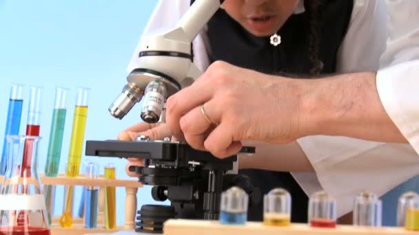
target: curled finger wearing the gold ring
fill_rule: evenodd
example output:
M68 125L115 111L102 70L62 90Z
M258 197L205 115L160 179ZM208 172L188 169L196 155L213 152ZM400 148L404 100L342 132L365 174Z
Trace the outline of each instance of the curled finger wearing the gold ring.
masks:
M216 127L215 122L218 122L213 120L221 119L221 111L218 107L219 106L216 105L214 100L210 100L204 104L204 111L201 107L196 107L181 118L181 130L185 136L186 142L190 144L192 148L205 150L203 143L211 131ZM209 120L205 118L205 115L207 115Z

